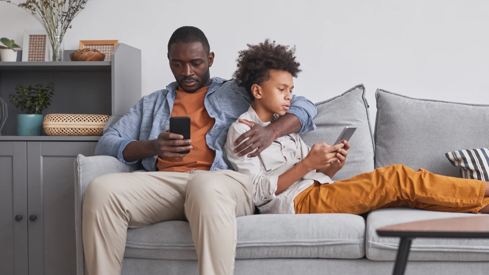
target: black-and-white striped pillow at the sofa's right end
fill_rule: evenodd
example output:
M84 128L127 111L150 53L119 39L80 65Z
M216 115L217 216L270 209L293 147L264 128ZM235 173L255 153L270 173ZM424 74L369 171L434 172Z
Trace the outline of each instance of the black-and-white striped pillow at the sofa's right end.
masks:
M445 156L453 166L460 167L462 178L489 181L489 148L453 151Z

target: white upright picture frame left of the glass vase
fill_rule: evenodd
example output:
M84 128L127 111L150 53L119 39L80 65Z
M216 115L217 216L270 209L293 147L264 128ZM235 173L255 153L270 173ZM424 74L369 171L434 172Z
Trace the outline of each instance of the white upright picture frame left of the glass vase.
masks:
M24 30L22 61L49 61L49 48L44 30Z

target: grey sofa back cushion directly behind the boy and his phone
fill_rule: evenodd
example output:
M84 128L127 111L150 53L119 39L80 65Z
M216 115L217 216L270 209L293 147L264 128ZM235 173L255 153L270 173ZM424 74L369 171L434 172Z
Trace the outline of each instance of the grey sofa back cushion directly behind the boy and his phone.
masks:
M350 139L345 166L334 175L333 180L345 180L374 170L374 137L370 126L370 115L365 87L357 85L341 95L316 103L315 131L301 135L307 145L326 142L330 145L346 126L356 127Z

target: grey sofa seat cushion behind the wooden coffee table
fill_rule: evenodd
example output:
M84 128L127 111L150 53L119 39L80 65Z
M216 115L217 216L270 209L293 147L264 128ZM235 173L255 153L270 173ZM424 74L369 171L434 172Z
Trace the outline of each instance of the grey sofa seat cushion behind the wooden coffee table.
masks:
M381 227L443 218L469 217L477 214L434 212L409 208L372 211L367 218L366 248L371 260L395 260L399 238L379 237ZM483 214L479 214L483 215ZM416 238L409 259L413 261L489 261L489 239Z

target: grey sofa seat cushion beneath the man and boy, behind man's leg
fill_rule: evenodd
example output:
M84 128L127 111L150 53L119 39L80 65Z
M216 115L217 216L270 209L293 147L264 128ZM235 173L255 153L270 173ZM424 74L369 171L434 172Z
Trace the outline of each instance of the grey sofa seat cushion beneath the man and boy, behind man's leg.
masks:
M195 260L187 222L128 229L125 257ZM237 259L361 258L365 220L351 214L272 214L238 218Z

